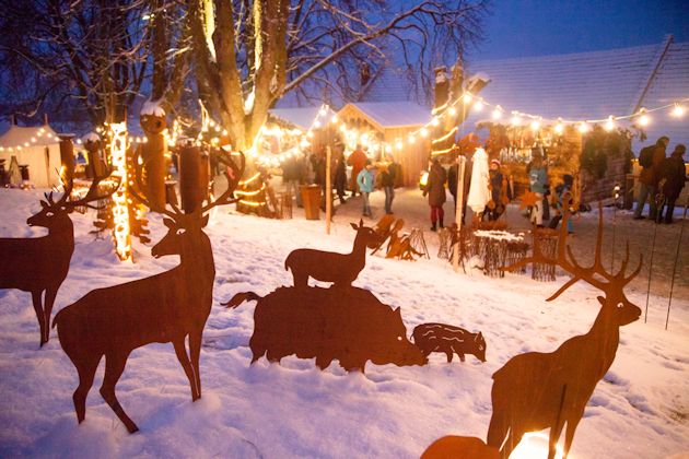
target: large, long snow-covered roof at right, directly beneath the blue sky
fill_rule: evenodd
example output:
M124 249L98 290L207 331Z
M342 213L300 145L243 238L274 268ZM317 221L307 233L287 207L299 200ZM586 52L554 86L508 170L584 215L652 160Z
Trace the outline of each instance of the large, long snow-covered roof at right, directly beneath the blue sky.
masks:
M657 70L656 70L657 69ZM488 73L491 82L481 96L507 113L518 110L544 118L603 119L629 115L637 106L653 108L689 97L689 43L637 46L604 51L576 52L474 62L471 73ZM471 114L464 130L484 113ZM649 139L634 151L663 134L670 146L689 142L687 117L668 113L653 116Z

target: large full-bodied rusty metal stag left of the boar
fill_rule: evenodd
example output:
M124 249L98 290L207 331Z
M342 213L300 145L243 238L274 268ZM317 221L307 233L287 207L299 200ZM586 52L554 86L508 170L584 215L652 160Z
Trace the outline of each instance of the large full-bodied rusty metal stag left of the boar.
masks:
M234 163L233 163L234 164ZM93 385L98 362L105 355L105 377L101 395L130 433L138 427L115 396L129 354L150 343L171 342L189 379L191 400L201 397L199 356L203 327L210 314L215 279L211 243L203 227L213 207L236 202L234 189L244 169L233 165L227 190L218 200L184 214L177 208L157 208L139 195L135 197L167 217L168 231L151 250L153 257L178 255L179 264L160 274L94 290L56 316L58 337L65 353L79 372L73 401L81 423L86 413L86 395ZM234 177L232 179L230 176ZM189 337L189 353L186 339Z

